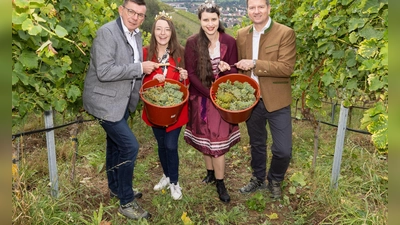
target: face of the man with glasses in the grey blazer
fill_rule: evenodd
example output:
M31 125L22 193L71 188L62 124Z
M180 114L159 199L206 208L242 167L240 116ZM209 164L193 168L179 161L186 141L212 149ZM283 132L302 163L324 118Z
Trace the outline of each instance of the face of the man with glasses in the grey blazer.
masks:
M132 32L142 25L145 18L144 15L146 14L146 6L127 2L125 6L121 5L118 7L118 12L124 25Z

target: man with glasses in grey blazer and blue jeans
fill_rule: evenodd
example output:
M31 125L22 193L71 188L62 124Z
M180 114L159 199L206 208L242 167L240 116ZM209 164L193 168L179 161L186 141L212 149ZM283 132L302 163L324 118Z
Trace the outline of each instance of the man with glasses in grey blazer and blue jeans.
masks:
M93 41L83 106L107 134L108 187L111 196L120 200L119 212L131 219L149 218L132 190L139 143L127 119L138 104L142 77L158 64L143 62L139 26L146 17L144 0L124 0L118 12L120 17L100 27Z

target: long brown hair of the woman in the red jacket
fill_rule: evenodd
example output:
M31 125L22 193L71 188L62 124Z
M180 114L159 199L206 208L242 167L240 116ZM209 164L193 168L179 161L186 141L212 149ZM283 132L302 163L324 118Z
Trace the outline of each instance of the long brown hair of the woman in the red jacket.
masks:
M176 29L174 24L172 23L172 21L170 19L167 19L165 17L161 17L158 20L165 20L168 23L169 28L171 29L171 38L168 42L168 49L169 49L169 54L172 56L172 58L174 59L176 65L178 67L185 67L185 62L184 62L184 48L179 44L178 42L178 36L176 34ZM158 55L158 50L157 50L157 40L156 37L154 35L154 31L156 28L156 23L157 21L154 21L153 26L151 28L151 38L150 38L150 45L148 46L148 54L147 54L147 60L152 60L153 57L155 56L157 58ZM180 61L178 61L178 58L180 58Z

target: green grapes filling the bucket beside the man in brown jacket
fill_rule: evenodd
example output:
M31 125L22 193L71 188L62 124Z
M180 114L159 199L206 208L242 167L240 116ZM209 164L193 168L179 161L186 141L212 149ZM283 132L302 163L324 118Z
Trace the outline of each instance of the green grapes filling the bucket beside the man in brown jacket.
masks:
M238 111L249 108L255 101L254 89L248 82L220 83L215 95L215 102L224 109Z

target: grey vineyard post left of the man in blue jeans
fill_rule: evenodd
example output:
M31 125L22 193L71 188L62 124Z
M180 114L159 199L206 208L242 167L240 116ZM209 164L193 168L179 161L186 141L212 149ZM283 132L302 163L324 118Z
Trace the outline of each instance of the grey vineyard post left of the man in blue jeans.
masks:
M50 110L44 112L44 123L45 128L53 128L53 111ZM46 143L47 143L47 158L49 161L49 174L50 174L50 186L51 196L58 197L58 175L57 175L57 161L56 161L56 147L54 141L54 130L46 131Z

